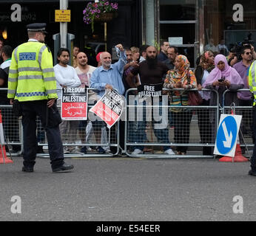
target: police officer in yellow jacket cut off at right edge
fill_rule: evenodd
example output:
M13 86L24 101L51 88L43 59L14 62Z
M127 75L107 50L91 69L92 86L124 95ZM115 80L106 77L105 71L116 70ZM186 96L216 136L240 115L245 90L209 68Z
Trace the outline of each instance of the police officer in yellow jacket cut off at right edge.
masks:
M252 111L252 119L253 119L253 129L252 133L254 135L255 147L253 148L252 158L251 158L251 170L249 170L250 176L256 176L256 60L252 63L249 68L249 89L252 91L254 95L253 102L253 111Z

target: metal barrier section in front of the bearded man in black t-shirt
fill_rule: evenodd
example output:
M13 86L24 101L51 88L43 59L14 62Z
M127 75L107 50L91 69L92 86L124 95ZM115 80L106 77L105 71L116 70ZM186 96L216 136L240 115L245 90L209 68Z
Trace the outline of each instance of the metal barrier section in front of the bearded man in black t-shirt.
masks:
M127 122L124 143L127 156L158 158L213 157L213 154L201 155L200 149L201 147L215 146L215 133L219 120L219 97L217 91L212 90L216 94L215 105L181 105L177 107L169 105L168 95L163 95L159 109L158 101L153 105L150 103L146 105L136 103L135 101L138 102L138 96L132 94L136 90L129 89L126 93ZM183 89L173 90L183 91ZM164 89L164 91L169 91L169 89ZM192 89L192 91L197 91L197 89ZM211 90L203 89L203 91ZM177 109L178 112L175 112ZM163 118L161 113L164 112L168 117L168 119L164 120L165 124L163 120L159 119ZM156 119L152 119L154 114L160 114L160 117L156 115L158 122L156 122ZM158 124L160 120L163 122L162 127ZM199 125L198 120L200 120ZM133 155L132 150L136 147L140 149L144 147L144 153ZM166 147L172 147L172 150L177 149L177 147L186 147L187 152L186 155L169 155L164 153Z

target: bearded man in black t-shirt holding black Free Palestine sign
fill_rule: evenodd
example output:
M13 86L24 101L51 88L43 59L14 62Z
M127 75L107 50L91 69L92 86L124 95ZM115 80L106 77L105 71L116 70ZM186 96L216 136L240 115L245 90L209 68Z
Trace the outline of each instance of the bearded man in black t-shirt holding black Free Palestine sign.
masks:
M157 58L157 49L155 46L149 46L146 49L146 60L142 61L138 67L132 69L132 71L127 75L127 83L131 88L136 88L135 83L132 80L132 77L138 74L141 85L156 85L163 84L164 77L166 72L168 72L168 67L158 61ZM163 100L164 102L164 100ZM128 101L129 103L129 101ZM135 105L136 105L135 101ZM138 105L146 105L145 101ZM152 104L156 105L156 104ZM155 113L155 108L151 109L154 111L152 116L152 124L154 125L154 133L160 143L169 143L169 131L167 128L168 125L168 109L166 108L166 115L164 116L164 109L161 108L162 101L158 102L159 110L158 113ZM163 104L167 105L167 104ZM148 108L144 107L141 111L141 108L137 109L137 112L142 112L143 119L142 121L137 121L137 129L134 131L131 142L141 143L143 145L146 142L146 117L149 117ZM146 114L147 112L147 114ZM156 121L157 120L157 121ZM133 126L132 126L133 127ZM144 146L136 146L135 150L132 152L132 155L138 155L143 153ZM164 153L167 155L172 155L174 152L172 148L164 146Z

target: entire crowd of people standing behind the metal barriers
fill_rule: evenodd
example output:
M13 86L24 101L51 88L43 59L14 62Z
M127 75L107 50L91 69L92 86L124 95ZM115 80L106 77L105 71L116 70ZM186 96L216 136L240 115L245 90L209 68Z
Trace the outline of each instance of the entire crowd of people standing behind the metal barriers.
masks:
M29 34L30 35L30 34ZM33 40L31 40L33 41ZM1 41L0 41L1 43ZM256 58L254 47L244 45L240 52L240 58L236 58L229 52L223 42L220 42L219 51L227 50L229 55L223 55L220 52L213 52L209 46L206 46L206 52L197 60L197 66L194 71L190 68L188 58L180 55L178 48L170 46L168 41L161 41L161 49L155 46L143 45L140 47L131 46L124 48L122 44L115 46L119 60L112 63L112 56L109 52L100 52L96 56L98 67L88 65L88 58L83 50L78 46L73 49L73 65L70 63L69 49L61 48L58 50L58 63L53 67L57 89L60 91L63 87L92 88L89 91L89 99L97 102L106 89L115 89L119 94L124 95L127 89L137 88L141 84L157 85L161 84L164 89L169 89L169 109L170 122L174 128L175 143L189 143L190 122L192 120L193 110L189 108L179 108L179 106L189 106L189 90L198 89L203 102L201 105L216 105L216 96L213 90L217 91L220 97L220 106L231 105L235 103L240 106L251 106L254 97L251 91L238 91L238 89L249 89L249 68L252 61ZM0 86L7 88L8 70L12 58L16 58L16 50L10 46L0 44L1 52L1 70ZM27 56L27 55L24 55ZM12 59L11 59L12 58ZM16 59L17 60L17 59ZM13 69L11 69L13 72ZM45 69L47 71L47 69ZM50 70L49 70L50 71ZM48 72L48 71L47 71ZM48 74L49 75L49 74ZM52 79L48 79L50 81ZM9 82L14 81L9 73ZM8 87L10 93L10 84ZM211 89L212 91L202 91L202 89ZM222 101L222 94L226 89L232 91L227 94L225 103ZM7 93L1 93L1 104L9 103ZM57 93L57 105L61 103L61 94ZM57 98L56 97L56 98ZM10 98L10 96L9 96ZM135 103L136 105L137 103ZM143 103L146 105L146 103ZM161 107L162 100L158 101ZM159 113L161 114L161 108ZM211 122L215 117L211 117L210 111L197 111L198 128L200 131L201 142L211 143L214 131ZM131 152L138 155L144 152L143 143L147 142L146 137L146 109L143 109L143 119L129 123L132 128L132 135L128 134L129 142L140 143L141 146L135 146ZM157 125L158 121L153 121ZM70 133L77 133L82 143L87 142L85 133L87 125L90 125L95 134L95 140L98 144L102 143L103 129L106 125L102 121L62 121L60 124L60 133L63 141L66 141ZM124 124L123 124L124 125ZM249 124L252 128L252 122ZM121 125L122 126L122 125ZM153 128L159 143L169 143L169 128ZM124 140L123 140L124 142ZM98 153L105 153L106 149L99 145ZM173 147L164 146L164 153L167 155L185 155L187 146L178 145L175 150ZM63 148L64 153L87 153L87 147L70 146ZM203 147L203 155L212 155L211 147Z

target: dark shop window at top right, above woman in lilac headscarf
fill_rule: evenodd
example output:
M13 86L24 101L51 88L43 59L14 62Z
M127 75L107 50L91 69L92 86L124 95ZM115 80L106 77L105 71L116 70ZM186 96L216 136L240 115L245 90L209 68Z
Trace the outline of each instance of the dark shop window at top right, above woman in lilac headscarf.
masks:
M223 40L228 49L246 42L256 46L256 1L206 0L204 25L205 45Z

